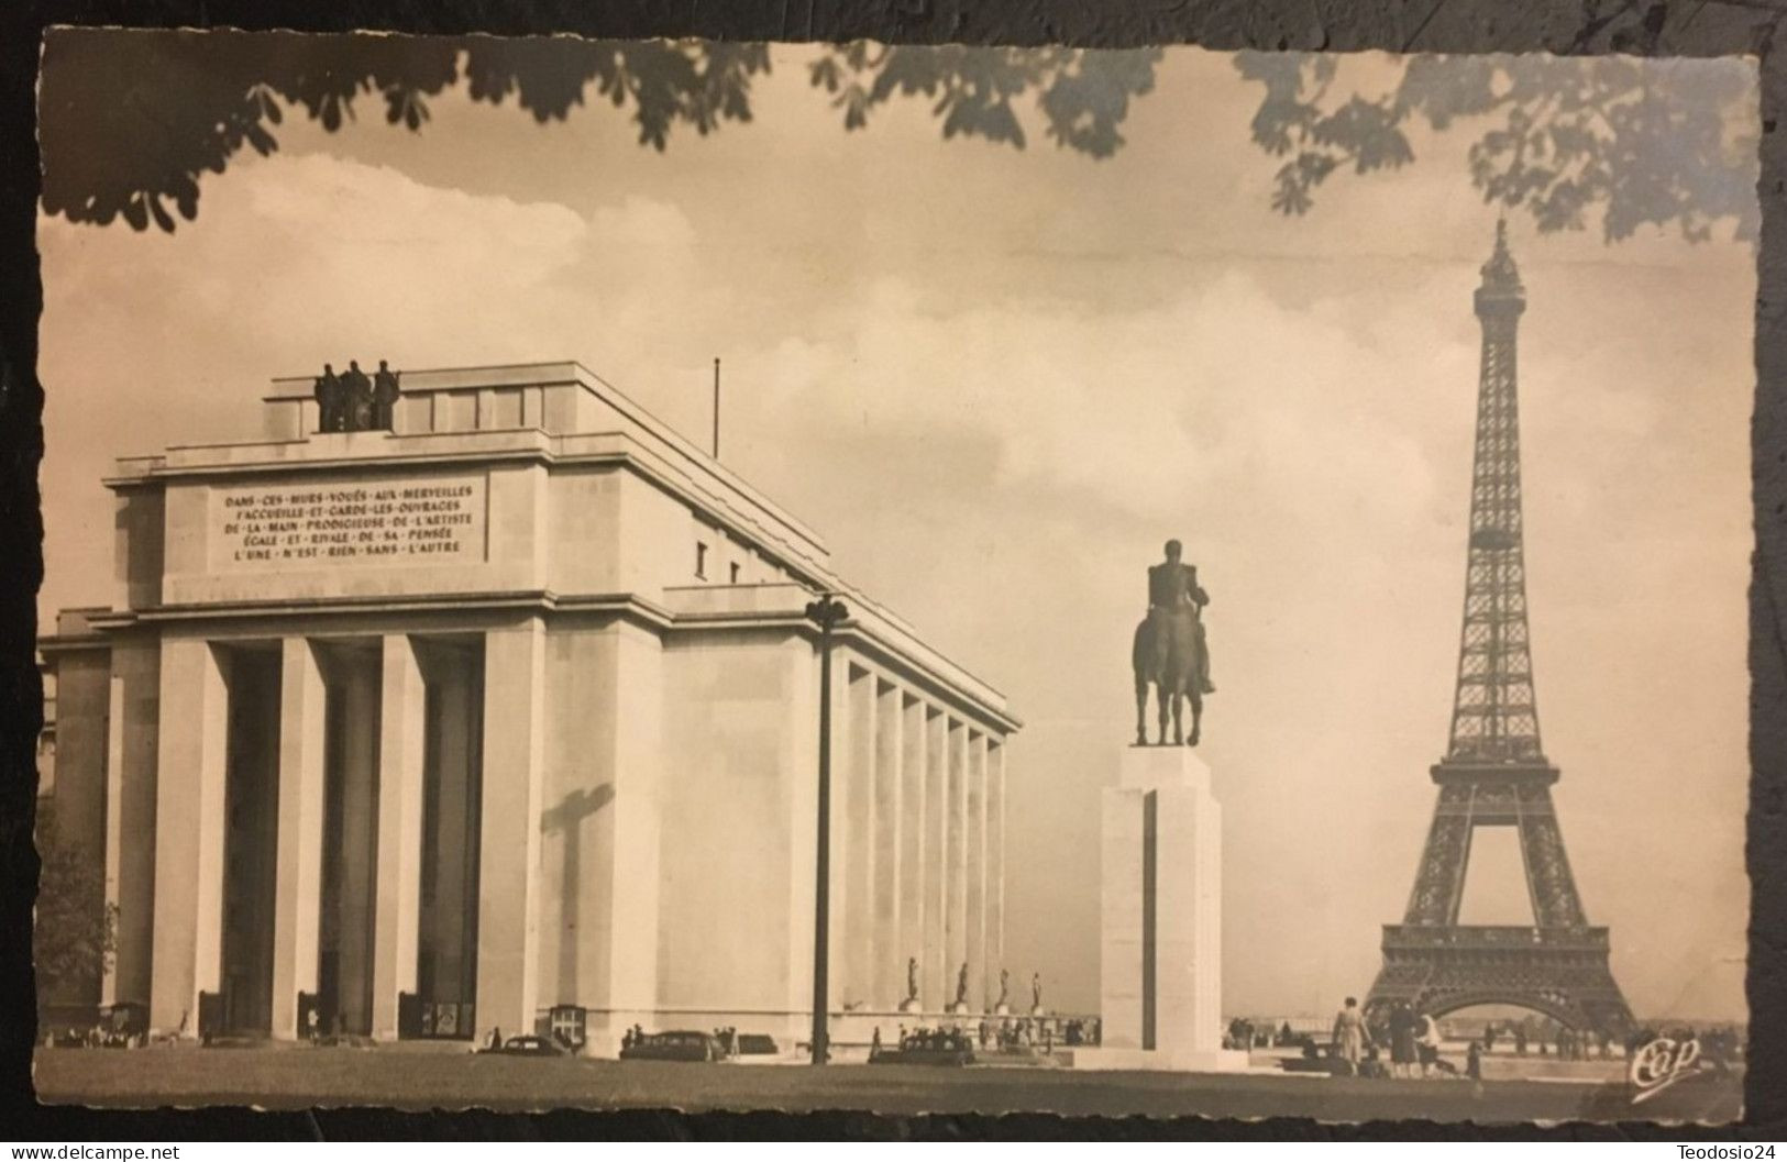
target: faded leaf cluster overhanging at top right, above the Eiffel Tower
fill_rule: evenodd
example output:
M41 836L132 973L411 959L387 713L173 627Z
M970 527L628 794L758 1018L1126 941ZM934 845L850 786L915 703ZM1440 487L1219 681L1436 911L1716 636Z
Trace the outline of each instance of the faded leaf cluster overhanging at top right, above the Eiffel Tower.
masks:
M1333 55L1244 52L1235 68L1265 89L1253 139L1285 157L1272 191L1285 215L1308 213L1333 173L1412 163L1417 118L1435 131L1478 120L1471 182L1542 232L1583 229L1590 209L1607 241L1644 225L1691 241L1721 222L1757 232L1758 143L1742 107L1755 89L1735 63L1421 55L1376 98L1333 95Z

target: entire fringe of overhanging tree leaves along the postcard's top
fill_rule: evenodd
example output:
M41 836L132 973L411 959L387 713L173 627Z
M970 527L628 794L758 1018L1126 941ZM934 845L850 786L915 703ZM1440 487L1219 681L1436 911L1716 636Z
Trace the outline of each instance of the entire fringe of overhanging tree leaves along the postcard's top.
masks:
M1154 88L1162 50L817 46L808 80L863 129L883 105L926 100L942 136L1026 148L1029 116L1060 148L1110 157L1131 102ZM1607 241L1642 225L1689 240L1728 222L1757 229L1755 131L1741 66L1633 57L1406 57L1381 97L1337 93L1337 57L1235 57L1262 86L1253 139L1283 157L1272 207L1308 213L1335 173L1415 161L1412 122L1449 131L1480 122L1469 179L1487 202L1530 213L1540 231L1598 220ZM708 134L752 118L759 43L588 41L572 38L295 36L245 32L52 32L39 89L43 207L70 222L175 229L198 213L204 173L243 147L279 148L282 111L327 131L382 104L384 120L422 131L429 100L463 84L481 102L515 104L536 122L595 100L624 111L642 145L677 129Z

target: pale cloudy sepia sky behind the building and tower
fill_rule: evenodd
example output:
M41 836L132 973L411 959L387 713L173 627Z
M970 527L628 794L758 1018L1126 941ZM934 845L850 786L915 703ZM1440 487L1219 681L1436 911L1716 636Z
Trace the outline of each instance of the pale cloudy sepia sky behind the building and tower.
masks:
M1465 122L1269 209L1256 86L1172 50L1108 161L867 132L774 52L756 120L658 154L606 104L536 125L377 102L206 175L198 220L43 220L39 610L109 597L111 458L252 438L273 375L574 358L726 459L847 577L1001 686L1008 960L1097 1001L1097 796L1167 536L1213 595L1224 1008L1328 1012L1401 917L1446 745L1494 213ZM1730 68L1730 66L1708 66ZM1347 77L1381 84L1385 61ZM1546 751L1640 1014L1741 1015L1753 254L1510 223ZM1521 919L1490 835L1465 921Z

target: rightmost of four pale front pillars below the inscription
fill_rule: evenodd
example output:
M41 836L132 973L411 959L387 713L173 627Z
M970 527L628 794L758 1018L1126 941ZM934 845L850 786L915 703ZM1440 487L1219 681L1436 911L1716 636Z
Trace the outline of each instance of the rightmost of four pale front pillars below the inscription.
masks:
M484 787L477 892L477 1030L531 1033L538 1006L545 627L484 635Z

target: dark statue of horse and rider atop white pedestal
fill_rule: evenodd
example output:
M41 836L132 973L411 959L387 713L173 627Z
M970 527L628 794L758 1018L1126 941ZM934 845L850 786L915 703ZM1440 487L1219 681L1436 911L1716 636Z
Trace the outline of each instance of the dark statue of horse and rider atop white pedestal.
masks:
M1160 704L1160 745L1197 745L1210 685L1210 649L1204 642L1203 608L1210 594L1197 585L1197 567L1179 560L1179 542L1167 542L1167 560L1147 570L1147 617L1135 627L1135 744L1147 745L1147 686L1154 683ZM1192 703L1192 735L1185 737L1183 703Z

